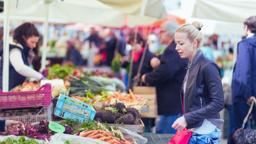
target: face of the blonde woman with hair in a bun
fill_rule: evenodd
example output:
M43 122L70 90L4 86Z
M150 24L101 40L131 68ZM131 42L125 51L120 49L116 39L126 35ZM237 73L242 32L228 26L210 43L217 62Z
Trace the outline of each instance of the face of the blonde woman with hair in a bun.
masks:
M188 58L190 61L192 61L196 54L197 41L194 40L193 43L191 43L187 37L187 33L183 32L176 32L174 34L174 39L175 44L177 44L175 50L178 51L180 57L183 59Z

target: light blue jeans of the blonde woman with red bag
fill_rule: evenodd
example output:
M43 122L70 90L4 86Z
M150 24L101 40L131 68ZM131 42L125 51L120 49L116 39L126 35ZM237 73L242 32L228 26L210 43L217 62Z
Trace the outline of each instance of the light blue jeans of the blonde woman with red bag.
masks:
M215 130L209 134L197 134L192 133L188 144L218 144L220 142L221 130L215 128Z

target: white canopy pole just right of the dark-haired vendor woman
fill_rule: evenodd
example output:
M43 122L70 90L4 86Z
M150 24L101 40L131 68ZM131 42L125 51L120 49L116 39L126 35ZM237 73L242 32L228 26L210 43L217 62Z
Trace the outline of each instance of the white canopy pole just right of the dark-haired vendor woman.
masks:
M43 52L42 52L40 71L43 71L45 69L45 65L46 65L46 46L47 46L47 41L48 41L48 25L49 25L49 6L50 6L50 2L48 2L46 4L47 4L47 9L46 9L46 18L45 18L45 21L44 21Z

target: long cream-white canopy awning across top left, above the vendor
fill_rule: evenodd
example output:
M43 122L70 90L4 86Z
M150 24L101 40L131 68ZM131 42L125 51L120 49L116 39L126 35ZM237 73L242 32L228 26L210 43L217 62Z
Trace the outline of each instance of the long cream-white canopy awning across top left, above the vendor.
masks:
M10 19L85 23L107 27L148 25L166 17L162 0L10 0ZM17 8L16 8L17 6ZM124 23L127 15L128 23ZM3 19L3 15L0 15Z

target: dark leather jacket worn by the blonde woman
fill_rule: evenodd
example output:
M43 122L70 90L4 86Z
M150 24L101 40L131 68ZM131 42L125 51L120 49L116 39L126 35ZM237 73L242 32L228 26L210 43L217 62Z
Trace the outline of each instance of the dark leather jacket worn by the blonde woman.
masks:
M185 114L187 129L199 127L204 119L220 119L224 95L219 66L204 55L187 68ZM181 91L183 101L183 92ZM183 103L182 103L183 104Z

